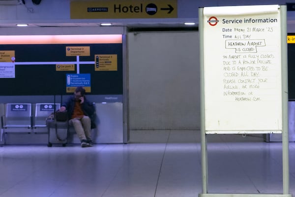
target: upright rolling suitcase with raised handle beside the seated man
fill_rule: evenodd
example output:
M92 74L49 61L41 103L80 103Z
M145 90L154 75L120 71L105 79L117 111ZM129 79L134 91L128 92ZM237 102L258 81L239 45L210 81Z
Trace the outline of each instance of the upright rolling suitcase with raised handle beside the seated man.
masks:
M62 100L62 96L61 96ZM55 103L55 97L54 97ZM48 131L48 147L53 144L61 144L66 146L69 132L68 120L59 121L56 117L56 112L46 119L46 126Z

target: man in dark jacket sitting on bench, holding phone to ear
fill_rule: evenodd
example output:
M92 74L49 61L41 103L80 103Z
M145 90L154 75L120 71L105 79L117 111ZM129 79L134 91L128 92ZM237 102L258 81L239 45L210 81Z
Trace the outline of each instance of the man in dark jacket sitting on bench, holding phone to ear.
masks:
M70 97L66 103L62 104L60 111L67 110L69 117L69 124L74 126L79 139L81 140L81 147L92 146L90 136L91 117L95 112L94 106L85 97L85 89L77 87L74 96Z

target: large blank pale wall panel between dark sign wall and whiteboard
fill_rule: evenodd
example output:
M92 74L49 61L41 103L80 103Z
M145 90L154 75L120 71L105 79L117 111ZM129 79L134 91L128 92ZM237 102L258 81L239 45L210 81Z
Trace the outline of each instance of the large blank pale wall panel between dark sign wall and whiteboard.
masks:
M129 33L128 52L130 129L200 129L199 33Z

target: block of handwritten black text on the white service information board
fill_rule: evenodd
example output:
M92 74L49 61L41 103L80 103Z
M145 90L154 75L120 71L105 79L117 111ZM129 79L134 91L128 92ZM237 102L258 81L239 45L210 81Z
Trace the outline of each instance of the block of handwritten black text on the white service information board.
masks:
M267 45L265 34L271 32L273 27L221 29L225 49L228 49L222 54L221 84L223 84L224 99L235 101L269 99L267 90L276 86L278 79L275 67L279 67L275 61L278 57L275 57L271 50L264 52L266 50L263 48ZM257 37L263 39L255 39Z

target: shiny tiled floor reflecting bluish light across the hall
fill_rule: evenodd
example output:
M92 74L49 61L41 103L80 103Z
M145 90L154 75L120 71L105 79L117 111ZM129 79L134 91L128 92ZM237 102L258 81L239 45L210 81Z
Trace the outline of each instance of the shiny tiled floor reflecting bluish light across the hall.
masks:
M0 197L197 197L202 192L199 132L142 132L129 144L0 147ZM282 143L209 135L207 149L208 193L283 192ZM295 195L294 142L290 193Z

